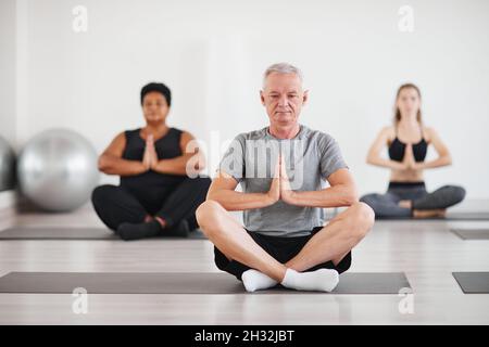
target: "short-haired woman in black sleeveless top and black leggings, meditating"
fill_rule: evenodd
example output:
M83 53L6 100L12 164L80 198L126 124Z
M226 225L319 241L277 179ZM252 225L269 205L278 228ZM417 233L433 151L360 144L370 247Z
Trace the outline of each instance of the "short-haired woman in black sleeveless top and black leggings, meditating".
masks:
M140 100L146 127L121 132L99 157L99 169L121 183L93 190L95 210L123 240L188 236L211 184L199 176L203 155L198 146L187 153L195 138L166 125L172 98L165 85L145 86Z

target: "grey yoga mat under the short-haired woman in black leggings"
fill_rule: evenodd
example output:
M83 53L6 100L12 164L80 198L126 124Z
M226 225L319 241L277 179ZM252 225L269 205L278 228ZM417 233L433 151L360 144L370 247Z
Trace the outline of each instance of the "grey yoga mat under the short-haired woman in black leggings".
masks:
M206 237L202 231L195 230L186 239L174 236L158 236L154 239L205 240ZM106 228L13 227L0 231L0 240L120 240L120 237Z

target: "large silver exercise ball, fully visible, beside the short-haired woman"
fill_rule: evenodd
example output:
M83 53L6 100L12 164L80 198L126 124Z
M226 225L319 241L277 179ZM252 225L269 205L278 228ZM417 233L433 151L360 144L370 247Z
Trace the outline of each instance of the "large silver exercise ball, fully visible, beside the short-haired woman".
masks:
M98 184L97 152L72 130L47 130L21 152L17 176L23 194L39 207L72 210L85 204Z

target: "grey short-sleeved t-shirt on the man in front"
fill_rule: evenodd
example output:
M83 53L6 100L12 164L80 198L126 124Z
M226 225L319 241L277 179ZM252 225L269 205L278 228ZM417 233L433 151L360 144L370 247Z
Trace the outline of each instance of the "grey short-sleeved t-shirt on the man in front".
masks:
M218 169L233 176L244 193L269 191L278 154L285 157L294 191L317 191L329 175L348 168L338 143L329 134L300 125L293 139L277 139L268 127L238 134L225 152ZM324 224L324 209L284 203L243 210L244 228L274 236L309 235Z

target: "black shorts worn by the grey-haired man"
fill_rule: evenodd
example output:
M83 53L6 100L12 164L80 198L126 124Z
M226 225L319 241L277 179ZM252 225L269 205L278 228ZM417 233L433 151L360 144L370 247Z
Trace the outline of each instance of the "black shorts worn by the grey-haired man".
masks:
M323 227L316 227L311 231L310 235L297 236L297 237L284 237L284 236L268 236L262 235L258 232L248 231L248 233L253 237L265 252L267 252L272 257L277 259L279 262L285 264L292 259L308 243L308 241L318 232ZM238 280L241 280L241 274L249 270L250 268L239 261L229 261L226 256L214 246L214 261L220 270L229 272L236 275ZM314 271L317 269L336 269L339 273L347 271L351 266L351 252L344 256L341 261L335 266L335 264L329 260L315 267L309 269L308 271Z

